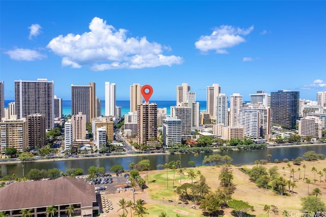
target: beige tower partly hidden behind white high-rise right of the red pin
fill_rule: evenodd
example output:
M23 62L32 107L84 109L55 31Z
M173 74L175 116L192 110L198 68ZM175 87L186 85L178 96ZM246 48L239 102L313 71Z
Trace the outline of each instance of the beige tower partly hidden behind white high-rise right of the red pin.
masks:
M192 131L193 109L188 106L171 106L171 117L176 117L182 121L181 135L190 135Z

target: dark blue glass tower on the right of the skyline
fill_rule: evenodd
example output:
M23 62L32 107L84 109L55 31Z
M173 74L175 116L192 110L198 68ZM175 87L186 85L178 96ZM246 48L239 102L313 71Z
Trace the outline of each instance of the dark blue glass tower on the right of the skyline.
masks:
M300 92L290 90L279 90L270 93L271 123L295 128L299 117Z

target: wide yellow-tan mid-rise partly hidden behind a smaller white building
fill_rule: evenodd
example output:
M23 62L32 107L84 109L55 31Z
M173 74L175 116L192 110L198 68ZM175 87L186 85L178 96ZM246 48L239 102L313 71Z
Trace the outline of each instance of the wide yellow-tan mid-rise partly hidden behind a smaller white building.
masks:
M98 128L105 128L105 134L106 134L106 139L107 140L113 140L113 134L114 134L114 129L113 129L114 121L112 117L96 117L93 118L92 120L92 133L93 133L93 138L97 138L97 129Z

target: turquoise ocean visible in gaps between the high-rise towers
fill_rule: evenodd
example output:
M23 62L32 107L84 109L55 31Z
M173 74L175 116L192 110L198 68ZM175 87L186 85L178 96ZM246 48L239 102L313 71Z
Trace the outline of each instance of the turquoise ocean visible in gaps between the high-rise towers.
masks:
M14 102L15 100L5 100L5 108L8 107L10 102ZM167 108L167 114L170 115L170 106L175 106L176 101L151 101L157 104L157 108ZM206 101L197 101L200 103L200 111L206 111ZM71 114L71 101L70 100L63 100L62 101L62 113L64 115ZM130 111L130 101L129 100L117 100L117 106L121 107L121 115L128 114ZM105 113L105 101L101 101L101 114L104 115Z

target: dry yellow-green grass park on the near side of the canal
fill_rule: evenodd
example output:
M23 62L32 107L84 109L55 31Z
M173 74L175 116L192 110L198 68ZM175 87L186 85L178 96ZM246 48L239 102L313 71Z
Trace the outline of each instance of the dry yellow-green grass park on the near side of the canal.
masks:
M290 164L290 167L288 167ZM306 168L303 167L305 165ZM326 201L326 183L325 183L325 171L320 174L313 172L313 168L318 171L323 171L326 168L326 160L319 161L302 161L301 165L294 165L293 162L287 163L267 163L262 165L267 170L273 166L277 166L279 176L282 176L286 180L293 180L295 187L293 192L288 192L287 185L285 186L285 192L287 196L278 195L275 191L258 187L255 182L250 180L250 177L241 171L241 168L251 169L258 165L243 165L241 167L232 167L233 183L236 186L235 192L232 195L232 199L242 200L253 206L253 211L248 213L254 214L257 217L267 216L267 212L264 210L265 205L274 205L278 208L279 213L273 213L269 211L269 216L283 216L283 211L287 210L291 213L300 213L302 209L302 197L312 194L313 189L319 188L321 194L318 195L322 201ZM284 167L284 168L283 168ZM300 170L298 170L300 168ZM193 169L194 171L200 171L205 176L206 182L211 191L216 191L220 186L219 175L221 173L222 165L219 166L201 166L184 168L183 174L180 175L177 171L170 169L152 170L148 171L148 188L144 191L135 189L135 200L141 199L145 201L144 207L147 209L148 214L144 216L159 216L160 213L166 212L167 216L204 216L203 210L199 208L200 204L192 201L180 201L176 188L184 183L192 183L187 171ZM294 169L294 175L290 171ZM293 170L292 170L293 171ZM290 176L291 173L291 176ZM146 171L140 172L140 175L147 180ZM293 177L294 176L294 177ZM299 177L300 176L300 177ZM303 178L310 179L308 183ZM193 179L193 182L198 181L198 176ZM173 188L173 185L175 188ZM292 189L292 187L291 187ZM114 204L115 209L110 210L109 213L102 213L101 216L121 216L123 209L120 209L119 200L124 198L126 201L133 200L132 191L118 193L118 194L106 194L106 197L110 198ZM120 210L119 210L120 209ZM222 209L225 217L231 215L232 208ZM128 213L126 213L128 211ZM134 214L133 210L126 208L126 216ZM296 216L296 215L295 215Z

